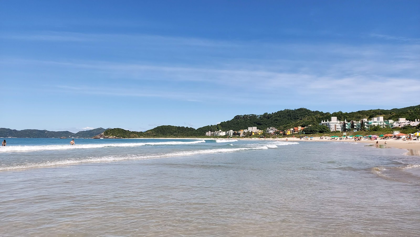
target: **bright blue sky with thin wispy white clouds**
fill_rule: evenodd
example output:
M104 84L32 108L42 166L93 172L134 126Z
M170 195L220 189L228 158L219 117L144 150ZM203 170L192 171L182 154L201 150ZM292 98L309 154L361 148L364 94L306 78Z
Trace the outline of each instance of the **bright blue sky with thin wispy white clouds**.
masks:
M420 104L414 0L1 1L0 21L0 126L11 129Z

